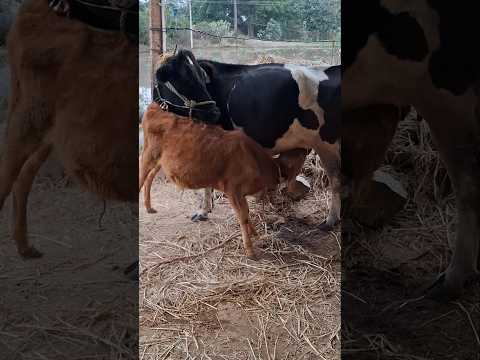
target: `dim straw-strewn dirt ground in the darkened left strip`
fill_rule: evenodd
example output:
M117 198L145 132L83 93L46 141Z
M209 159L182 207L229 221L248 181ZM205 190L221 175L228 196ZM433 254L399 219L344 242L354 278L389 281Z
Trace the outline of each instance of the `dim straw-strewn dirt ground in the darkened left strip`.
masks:
M123 269L138 253L136 205L108 202L99 228L103 202L65 179L37 177L29 232L44 256L36 260L16 253L9 208L10 198L0 212L0 358L134 358L138 284Z

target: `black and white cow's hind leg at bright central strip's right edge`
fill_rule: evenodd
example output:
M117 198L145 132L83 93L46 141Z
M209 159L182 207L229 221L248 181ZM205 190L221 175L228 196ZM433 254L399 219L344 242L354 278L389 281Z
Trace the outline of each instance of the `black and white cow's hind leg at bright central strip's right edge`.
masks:
M340 171L341 171L341 158L340 158L340 149L338 144L329 144L323 141L319 141L314 147L315 152L320 156L322 165L327 173L330 192L331 192L331 202L328 209L327 219L320 225L320 228L325 231L331 230L339 221L340 221L340 210L341 210L341 180L340 180Z

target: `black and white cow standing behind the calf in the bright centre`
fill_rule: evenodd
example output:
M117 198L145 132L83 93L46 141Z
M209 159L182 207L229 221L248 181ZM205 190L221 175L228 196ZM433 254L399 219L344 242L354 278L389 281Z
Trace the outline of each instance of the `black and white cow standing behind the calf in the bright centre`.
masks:
M195 75L186 75L195 74ZM295 154L300 161L314 149L320 156L330 181L332 201L324 228L340 219L340 121L341 99L339 66L313 69L284 64L234 65L195 60L182 50L157 71L159 98L174 103L171 111L180 111L188 100L197 99L184 84L201 78L220 109L220 118L211 122L225 129L241 129L274 154ZM190 76L188 79L187 76ZM168 85L168 86L166 86ZM189 95L186 95L189 92ZM185 112L185 110L183 110ZM215 121L216 120L216 121ZM219 149L220 151L220 149ZM293 151L293 152L290 152ZM295 152L296 151L296 152ZM281 155L282 156L282 155ZM241 166L239 164L239 166ZM295 177L290 179L293 188ZM210 191L206 191L200 211L211 210Z

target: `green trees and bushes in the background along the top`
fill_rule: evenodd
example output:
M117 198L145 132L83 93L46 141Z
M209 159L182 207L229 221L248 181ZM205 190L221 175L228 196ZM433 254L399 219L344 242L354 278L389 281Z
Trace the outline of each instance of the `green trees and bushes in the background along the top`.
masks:
M251 0L237 1L240 35L272 40L340 39L340 0L274 0L264 4ZM148 38L148 9L142 10L144 6L148 7L148 2L141 2L140 39ZM195 29L218 35L230 34L233 29L233 1L193 0L192 16ZM169 27L189 27L188 1L170 0L165 17ZM187 31L167 32L169 41L177 43L188 43L188 36ZM210 40L215 41L213 38Z

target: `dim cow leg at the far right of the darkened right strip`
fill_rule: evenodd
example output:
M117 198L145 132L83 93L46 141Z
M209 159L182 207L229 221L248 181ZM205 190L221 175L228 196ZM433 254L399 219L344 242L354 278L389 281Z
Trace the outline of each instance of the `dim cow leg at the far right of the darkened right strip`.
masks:
M447 270L437 278L429 291L433 298L448 300L459 296L465 282L478 274L480 119L462 119L458 114L448 112L423 115L429 122L442 160L447 166L457 200L458 225L453 257Z

